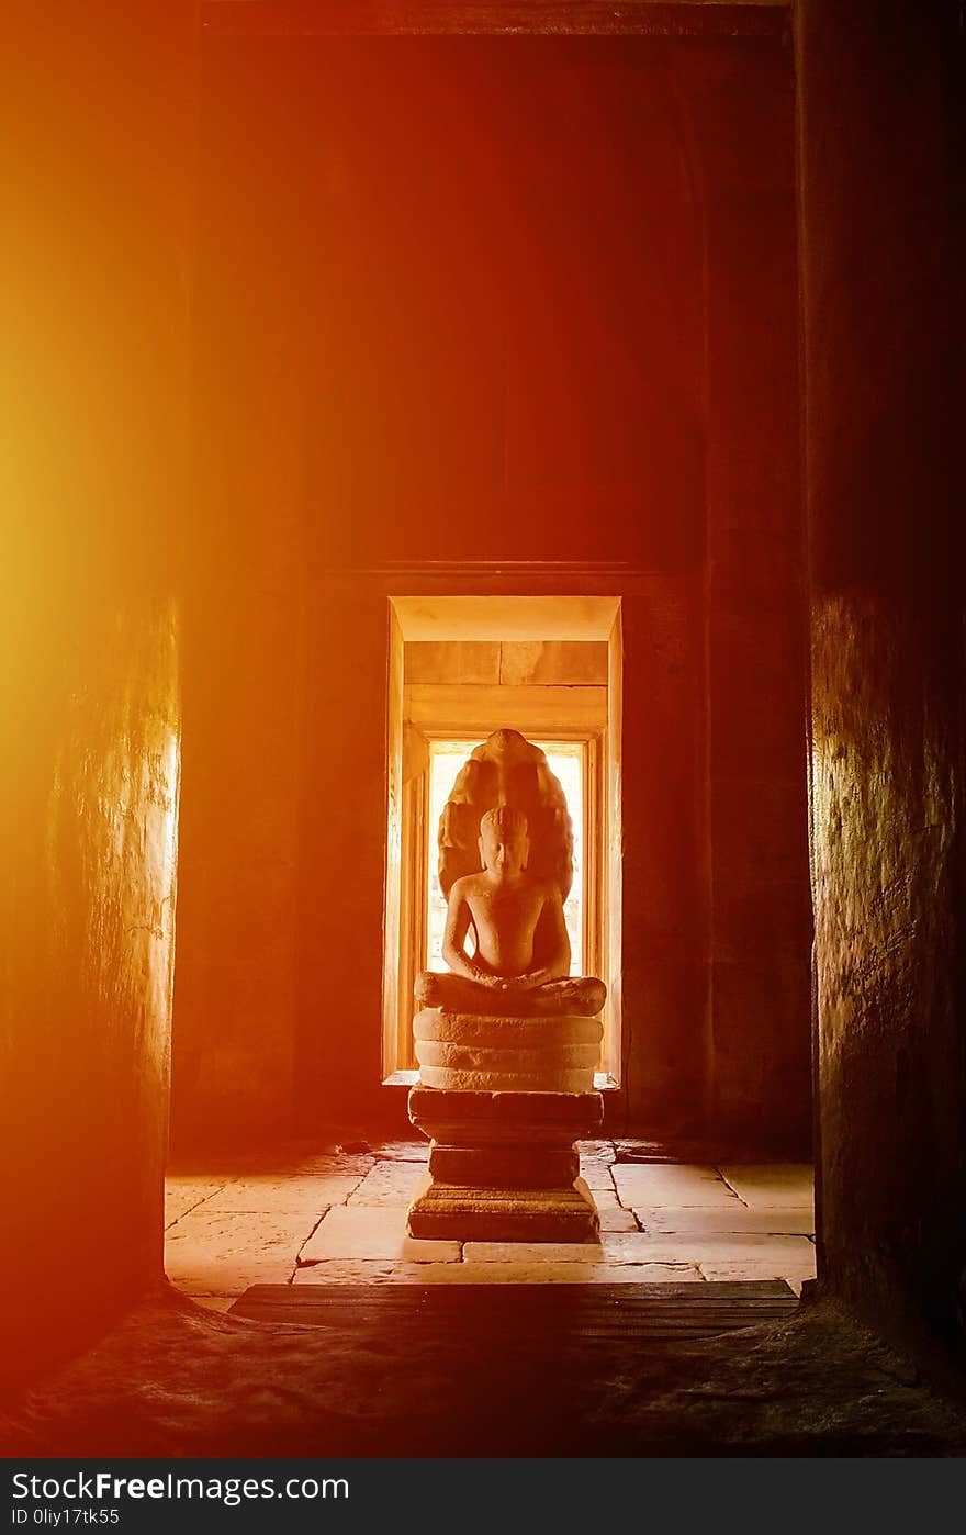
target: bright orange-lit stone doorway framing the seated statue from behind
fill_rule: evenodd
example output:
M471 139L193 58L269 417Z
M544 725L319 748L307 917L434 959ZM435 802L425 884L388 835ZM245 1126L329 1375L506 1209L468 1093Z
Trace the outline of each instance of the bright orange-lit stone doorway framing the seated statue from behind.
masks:
M571 955L607 975L600 1085L620 1081L620 599L390 599L389 830L382 1081L415 1081L413 978L441 938L438 821L450 780L498 726L556 749L581 853ZM461 743L461 751L456 749ZM462 752L462 755L461 755ZM579 932L577 932L579 924ZM582 973L582 972L574 972Z

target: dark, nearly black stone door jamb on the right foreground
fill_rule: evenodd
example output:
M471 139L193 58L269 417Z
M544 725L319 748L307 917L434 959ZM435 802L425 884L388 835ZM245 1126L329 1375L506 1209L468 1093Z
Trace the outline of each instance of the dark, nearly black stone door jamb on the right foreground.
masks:
M961 1335L963 37L803 0L825 1283Z

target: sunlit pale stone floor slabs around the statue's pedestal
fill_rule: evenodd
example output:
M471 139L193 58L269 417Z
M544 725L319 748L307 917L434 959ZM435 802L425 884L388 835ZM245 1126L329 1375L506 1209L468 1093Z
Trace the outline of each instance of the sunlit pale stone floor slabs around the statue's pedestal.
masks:
M427 1142L289 1142L232 1165L174 1168L166 1269L227 1311L249 1285L674 1283L815 1273L812 1170L673 1160L653 1142L581 1144L602 1240L428 1242L405 1234Z

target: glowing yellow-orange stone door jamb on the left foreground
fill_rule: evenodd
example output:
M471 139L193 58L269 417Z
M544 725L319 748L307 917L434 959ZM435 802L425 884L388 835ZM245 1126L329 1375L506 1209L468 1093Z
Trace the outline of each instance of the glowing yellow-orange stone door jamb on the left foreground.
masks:
M18 41L0 603L14 1374L161 1277L192 14L65 5Z

